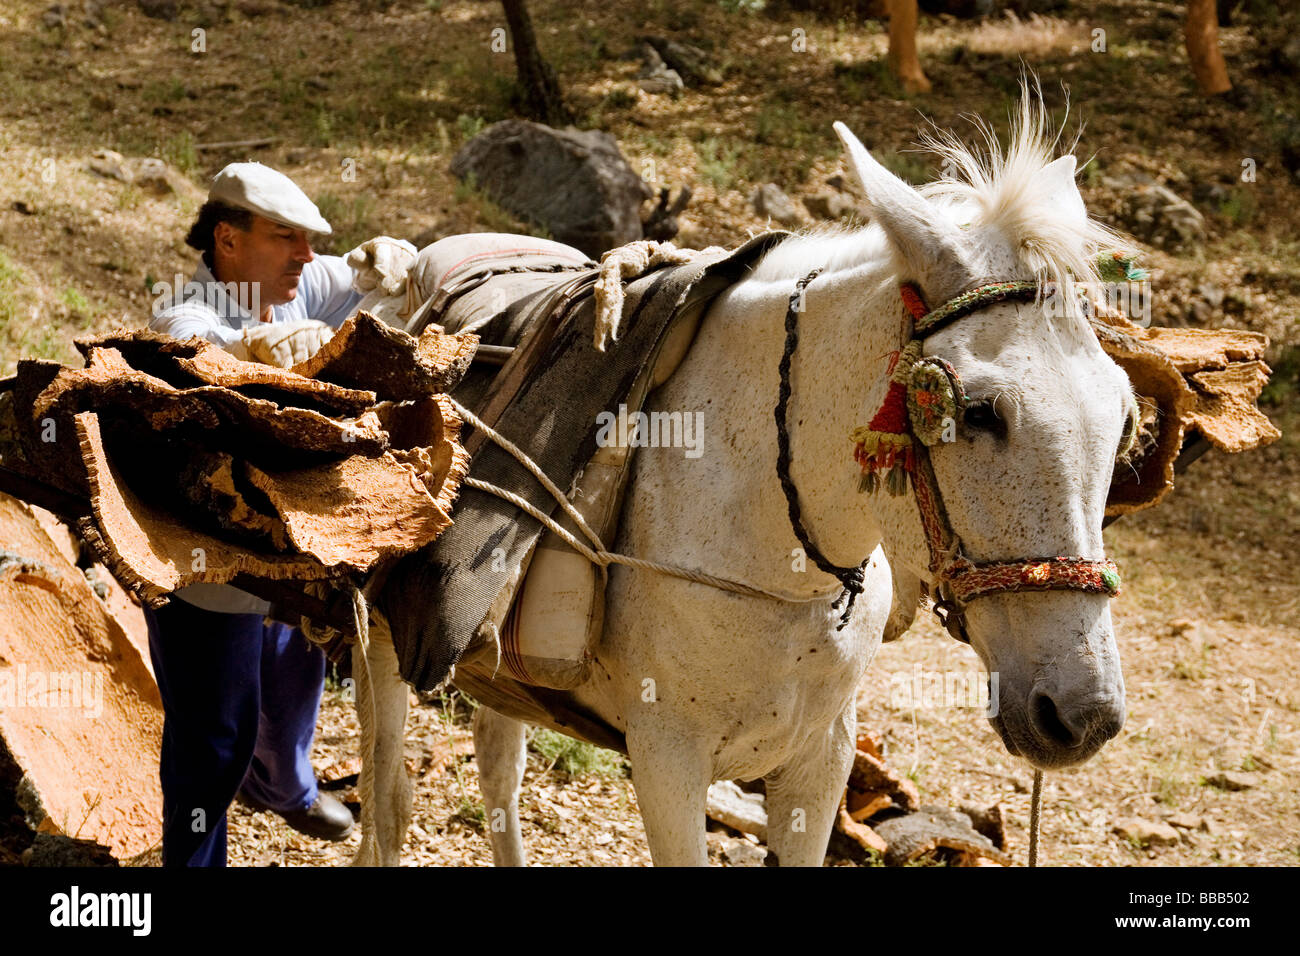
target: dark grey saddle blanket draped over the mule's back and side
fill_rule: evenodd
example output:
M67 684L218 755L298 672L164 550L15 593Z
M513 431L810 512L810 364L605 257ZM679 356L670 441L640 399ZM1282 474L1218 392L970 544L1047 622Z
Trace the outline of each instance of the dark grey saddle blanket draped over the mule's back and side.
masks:
M493 238L499 242L504 237ZM512 238L520 245L543 242ZM604 351L593 342L592 291L598 271L576 269L581 263L562 252L567 247L549 243L556 248L546 248L546 255L534 250L521 259L495 255L493 248L473 261L465 256L456 278L469 291L433 320L447 332L473 329L486 343L517 345L495 376L476 367L452 394L517 445L555 485L569 489L597 451L602 423L607 429L620 411L627 416L627 408L619 406L627 406L637 381L644 381L673 319L686 310L702 311L785 238L785 233L770 233L732 252L701 254L686 264L629 280L619 337ZM439 245L425 250L434 254L429 259L437 259L438 267L448 261L445 252L437 255ZM581 259L580 252L568 252ZM547 260L547 255L554 258ZM426 267L424 282L446 287L448 271L438 267ZM502 272L512 267L516 272ZM529 267L554 269L555 274ZM420 274L419 264L412 274ZM426 285L421 293L428 291ZM412 325L419 320L417 313ZM642 392L632 411L644 397ZM511 454L469 429L462 441L473 454L471 477L512 492L543 514L558 511L551 496ZM523 509L462 486L452 525L432 545L402 558L378 597L406 680L428 691L448 678L489 614L514 597L543 531Z

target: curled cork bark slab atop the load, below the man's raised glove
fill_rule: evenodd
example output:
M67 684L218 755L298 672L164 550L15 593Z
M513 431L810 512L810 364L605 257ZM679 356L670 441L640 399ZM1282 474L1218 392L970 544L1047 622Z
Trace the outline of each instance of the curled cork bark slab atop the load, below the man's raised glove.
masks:
M369 312L358 312L318 352L290 371L373 389L382 401L404 402L451 392L468 371L477 345L477 336L446 336L437 329L416 339Z

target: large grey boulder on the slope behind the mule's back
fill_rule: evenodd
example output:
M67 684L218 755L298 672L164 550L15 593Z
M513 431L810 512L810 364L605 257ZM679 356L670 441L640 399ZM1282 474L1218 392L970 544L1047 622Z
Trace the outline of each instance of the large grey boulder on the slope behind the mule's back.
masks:
M641 203L654 195L608 133L525 120L489 126L460 147L451 172L593 259L641 238Z

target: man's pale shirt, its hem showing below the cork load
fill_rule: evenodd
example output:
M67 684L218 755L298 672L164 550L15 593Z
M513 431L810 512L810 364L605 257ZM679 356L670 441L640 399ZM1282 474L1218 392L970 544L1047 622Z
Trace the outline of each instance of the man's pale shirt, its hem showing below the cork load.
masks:
M283 306L272 306L272 321L315 319L337 329L363 298L352 289L352 268L341 256L316 256L304 263L298 295ZM259 324L259 317L239 304L237 290L217 282L207 263L199 261L188 282L182 285L179 278L177 276L177 287L170 289L170 294L166 284L153 286L159 298L151 330L173 338L198 336L229 350L240 341L244 329ZM176 597L224 614L266 614L270 610L269 602L229 584L191 584L177 591Z

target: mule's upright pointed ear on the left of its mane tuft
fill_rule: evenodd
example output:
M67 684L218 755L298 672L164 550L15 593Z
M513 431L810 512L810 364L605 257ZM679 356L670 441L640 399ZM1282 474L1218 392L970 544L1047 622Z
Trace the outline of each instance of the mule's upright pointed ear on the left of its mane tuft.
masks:
M914 273L911 277L935 299L952 295L954 286L970 280L958 228L920 193L880 165L848 126L836 122L835 131L849 152L849 165L862 186L871 219L884 228Z

